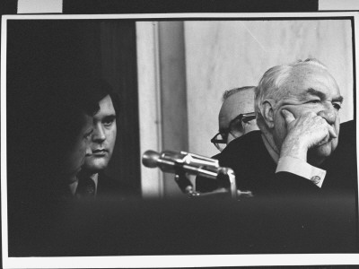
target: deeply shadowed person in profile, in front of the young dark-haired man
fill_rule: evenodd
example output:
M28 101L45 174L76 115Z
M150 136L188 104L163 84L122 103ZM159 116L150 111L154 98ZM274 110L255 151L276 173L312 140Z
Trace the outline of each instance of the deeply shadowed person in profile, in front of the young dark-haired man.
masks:
M18 189L23 199L35 204L59 201L71 196L69 186L77 181L90 152L92 117L100 107L89 94L89 77L57 73L51 80L31 81L28 87L34 90L23 101L27 114L18 120L25 124L17 132L26 129L27 134L19 145L24 161L16 179Z

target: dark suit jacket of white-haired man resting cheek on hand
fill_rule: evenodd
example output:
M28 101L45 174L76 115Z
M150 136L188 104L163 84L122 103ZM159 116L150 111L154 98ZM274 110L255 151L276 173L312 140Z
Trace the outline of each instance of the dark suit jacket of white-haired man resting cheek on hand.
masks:
M230 167L236 175L237 187L250 190L253 195L349 195L356 194L355 122L341 125L337 150L320 165L327 170L323 186L287 172L275 173L272 160L262 141L260 131L253 131L235 139L215 156L223 167ZM213 181L197 178L197 190L215 189Z

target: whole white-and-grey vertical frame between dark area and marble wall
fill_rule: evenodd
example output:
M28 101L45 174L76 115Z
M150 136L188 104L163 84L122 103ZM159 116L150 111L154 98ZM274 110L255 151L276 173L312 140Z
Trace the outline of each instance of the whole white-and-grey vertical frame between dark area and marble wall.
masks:
M140 152L188 151L183 22L136 22L136 39ZM142 166L141 182L145 198L182 195L159 169Z

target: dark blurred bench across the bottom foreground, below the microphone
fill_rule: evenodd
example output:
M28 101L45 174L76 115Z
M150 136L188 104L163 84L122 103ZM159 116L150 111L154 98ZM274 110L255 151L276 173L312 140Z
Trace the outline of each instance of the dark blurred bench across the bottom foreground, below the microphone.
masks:
M337 196L64 204L56 216L9 226L9 234L16 231L9 256L358 253L356 222L347 217L353 202Z

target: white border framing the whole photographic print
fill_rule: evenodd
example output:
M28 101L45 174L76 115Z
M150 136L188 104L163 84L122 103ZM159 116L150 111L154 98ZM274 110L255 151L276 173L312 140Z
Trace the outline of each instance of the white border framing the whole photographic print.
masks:
M355 12L319 13L152 13L152 14L34 14L3 15L1 47L1 202L2 202L2 255L4 268L112 268L112 267L194 267L194 266L238 266L238 265L358 265L359 254L299 254L299 255L213 255L213 256L78 256L78 257L9 257L7 241L7 162L6 162L6 36L8 20L83 20L83 19L236 19L236 18L289 18L289 17L346 17L353 18L355 40L359 40L359 17ZM355 56L359 52L355 42ZM356 61L354 58L354 65ZM357 67L355 82L359 81ZM359 96L356 94L356 103ZM359 117L356 109L356 119ZM356 140L359 141L358 132ZM358 152L358 146L356 145ZM175 263L174 263L175 261Z

